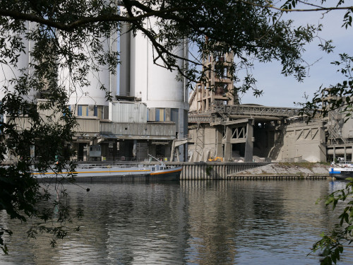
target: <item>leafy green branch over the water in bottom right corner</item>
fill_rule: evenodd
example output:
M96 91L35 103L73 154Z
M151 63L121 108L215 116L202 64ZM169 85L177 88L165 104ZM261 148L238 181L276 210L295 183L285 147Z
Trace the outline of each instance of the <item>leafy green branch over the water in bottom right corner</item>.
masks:
M322 265L336 264L344 246L353 242L353 178L347 180L349 182L345 189L333 192L325 201L326 206L333 206L333 210L340 202L345 204L345 208L339 216L340 223L335 225L330 234L322 234L321 240L313 245L313 252L322 250Z

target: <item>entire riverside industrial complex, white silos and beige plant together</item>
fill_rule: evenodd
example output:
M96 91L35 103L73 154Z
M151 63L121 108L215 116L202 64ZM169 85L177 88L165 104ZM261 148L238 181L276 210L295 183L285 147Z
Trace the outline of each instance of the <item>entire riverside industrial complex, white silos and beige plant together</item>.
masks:
M229 75L232 54L208 54L203 58L208 78L196 84L189 100L186 80L177 80L175 71L154 64L153 48L146 37L132 35L128 25L122 30L119 85L116 75L100 69L89 73L90 86L76 89L67 78L67 69L58 70L78 122L71 143L77 150L74 159L145 160L151 154L163 160L191 162L319 162L339 156L352 160L352 118L344 122L345 115L339 110L307 122L294 108L239 105ZM107 49L118 47L115 35L102 42ZM25 43L19 69L28 68L30 46ZM179 57L187 57L186 41L176 52ZM222 71L215 71L217 61L222 62ZM177 63L181 69L185 66L182 60ZM13 92L9 80L20 76L20 71L5 64L1 68L3 98ZM106 100L101 86L113 96L112 102ZM323 97L326 106L332 98ZM43 102L41 93L32 90L28 100ZM16 126L18 130L28 129L30 122L19 117Z

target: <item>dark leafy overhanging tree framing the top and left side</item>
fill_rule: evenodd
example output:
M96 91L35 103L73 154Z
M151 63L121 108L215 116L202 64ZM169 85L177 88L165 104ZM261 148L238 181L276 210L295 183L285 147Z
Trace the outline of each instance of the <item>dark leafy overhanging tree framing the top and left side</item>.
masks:
M74 167L70 159L74 151L68 143L76 122L67 106L70 90L58 71L67 70L73 92L90 85L90 71L105 68L114 73L119 52L114 47L107 49L103 43L119 33L122 23L128 23L133 34L148 38L154 48L155 63L178 71L179 76L188 78L189 86L207 76L199 70L202 61L198 57L181 58L174 54L184 40L189 40L198 54L232 52L236 59L229 72L232 80L237 81L236 89L260 95L261 91L253 86L251 73L243 83L237 76L239 69L251 68L254 59L280 61L282 73L294 75L299 81L306 76L301 54L304 45L318 37L321 25L294 27L292 20L284 20L282 13L291 11L298 2L301 1L283 1L283 6L277 8L266 0L1 1L0 63L3 68L16 69L18 74L0 74L1 89L6 91L0 114L8 117L1 123L0 157L6 162L6 155L11 152L19 160L17 165L0 167L0 210L20 220L32 216L44 221L52 218L47 208L37 207L40 201L50 199L50 194L37 184L31 172L32 167L46 170L57 157L55 170L60 171L66 163ZM332 9L345 8L345 19L350 24L352 8L342 4L343 1L337 1ZM148 26L151 23L157 25L157 30ZM20 54L28 48L25 42L31 43L27 51L31 60L27 66L21 66ZM330 42L321 44L325 51L332 48ZM179 59L187 61L188 67L179 66ZM216 62L217 69L222 69L222 62ZM102 90L107 89L102 86ZM28 100L32 91L45 91L42 98L46 101L37 105ZM112 96L108 94L107 98ZM19 130L16 124L21 117L28 117L30 126ZM35 146L36 160L28 156L30 146ZM58 204L54 200L53 205ZM70 220L65 205L59 204L59 208L59 221ZM46 229L56 237L66 235L64 227L59 228ZM0 247L7 252L2 235L10 231L0 229Z

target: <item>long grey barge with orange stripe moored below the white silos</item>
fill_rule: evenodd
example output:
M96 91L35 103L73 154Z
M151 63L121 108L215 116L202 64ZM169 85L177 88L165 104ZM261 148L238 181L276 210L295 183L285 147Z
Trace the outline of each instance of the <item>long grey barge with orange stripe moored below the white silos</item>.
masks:
M150 155L152 157L152 155ZM154 158L154 157L152 157ZM157 158L155 158L157 160ZM75 182L179 181L182 167L159 164L104 165L78 164L75 171L32 172L39 181L74 177Z

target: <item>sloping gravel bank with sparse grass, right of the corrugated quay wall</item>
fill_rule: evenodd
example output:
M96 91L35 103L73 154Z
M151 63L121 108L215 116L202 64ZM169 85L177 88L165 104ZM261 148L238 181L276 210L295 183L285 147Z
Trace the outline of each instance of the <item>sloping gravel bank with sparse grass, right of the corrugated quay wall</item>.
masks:
M227 179L329 179L323 163L271 163L229 174Z

